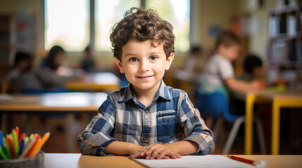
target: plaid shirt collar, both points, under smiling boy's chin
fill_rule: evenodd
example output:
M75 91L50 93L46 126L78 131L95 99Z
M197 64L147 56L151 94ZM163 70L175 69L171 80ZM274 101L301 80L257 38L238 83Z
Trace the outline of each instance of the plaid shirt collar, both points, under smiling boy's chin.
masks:
M158 97L162 97L165 100L171 100L169 87L165 85L163 80L161 80L161 85L159 86L158 91L156 92L156 96L154 97L154 100L158 99ZM135 97L134 89L131 83L129 83L129 85L124 87L124 91L122 92L119 101L128 102L130 99L132 99L134 102L137 102L137 97Z

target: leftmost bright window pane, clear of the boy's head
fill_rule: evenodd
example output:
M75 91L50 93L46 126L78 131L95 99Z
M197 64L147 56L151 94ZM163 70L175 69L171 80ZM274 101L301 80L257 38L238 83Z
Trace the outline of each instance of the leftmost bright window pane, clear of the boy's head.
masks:
M82 51L89 44L89 0L45 0L44 47Z

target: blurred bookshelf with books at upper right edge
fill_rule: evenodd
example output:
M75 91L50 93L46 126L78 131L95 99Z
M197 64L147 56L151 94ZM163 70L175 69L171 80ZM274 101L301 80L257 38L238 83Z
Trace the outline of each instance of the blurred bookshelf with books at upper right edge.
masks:
M268 82L282 78L302 83L302 3L274 8L269 13Z

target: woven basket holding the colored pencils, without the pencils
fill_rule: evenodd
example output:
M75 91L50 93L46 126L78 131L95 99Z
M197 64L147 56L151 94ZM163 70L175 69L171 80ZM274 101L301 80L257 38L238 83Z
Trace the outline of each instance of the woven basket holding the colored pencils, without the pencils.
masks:
M40 151L34 158L22 158L14 160L0 160L0 167L3 168L38 168L44 167L44 152Z

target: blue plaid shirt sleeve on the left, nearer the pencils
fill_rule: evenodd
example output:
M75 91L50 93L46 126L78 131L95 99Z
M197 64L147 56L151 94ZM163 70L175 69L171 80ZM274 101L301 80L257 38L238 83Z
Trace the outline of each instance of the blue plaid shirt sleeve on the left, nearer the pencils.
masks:
M103 150L113 141L110 136L115 123L115 106L111 102L110 94L100 106L98 115L92 118L89 125L79 137L77 144L80 151L85 155L106 155Z

